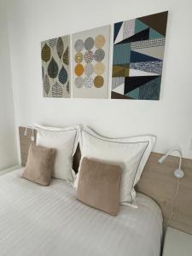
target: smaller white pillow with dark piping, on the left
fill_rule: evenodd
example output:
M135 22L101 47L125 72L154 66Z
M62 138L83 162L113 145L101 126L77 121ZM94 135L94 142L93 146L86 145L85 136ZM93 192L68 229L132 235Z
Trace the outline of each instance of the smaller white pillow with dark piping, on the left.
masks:
M56 149L52 177L73 181L73 155L79 143L79 125L71 125L66 128L42 125L34 125L34 127L38 130L37 145Z

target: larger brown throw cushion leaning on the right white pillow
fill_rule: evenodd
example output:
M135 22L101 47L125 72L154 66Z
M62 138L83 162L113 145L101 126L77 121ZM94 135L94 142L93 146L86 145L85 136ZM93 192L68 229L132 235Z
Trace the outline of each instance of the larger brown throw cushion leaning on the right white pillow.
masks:
M117 215L122 170L86 157L81 162L77 199L90 207Z

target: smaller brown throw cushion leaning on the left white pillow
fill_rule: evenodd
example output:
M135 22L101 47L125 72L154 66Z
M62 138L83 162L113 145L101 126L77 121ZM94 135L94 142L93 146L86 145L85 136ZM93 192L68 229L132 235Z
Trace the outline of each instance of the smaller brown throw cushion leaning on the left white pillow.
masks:
M55 149L31 144L22 177L48 186L53 172Z

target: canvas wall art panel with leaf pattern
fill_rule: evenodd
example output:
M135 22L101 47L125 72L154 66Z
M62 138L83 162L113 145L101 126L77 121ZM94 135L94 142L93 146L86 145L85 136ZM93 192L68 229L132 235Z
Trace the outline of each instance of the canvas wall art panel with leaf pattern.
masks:
M44 97L71 95L69 35L41 43L42 79Z

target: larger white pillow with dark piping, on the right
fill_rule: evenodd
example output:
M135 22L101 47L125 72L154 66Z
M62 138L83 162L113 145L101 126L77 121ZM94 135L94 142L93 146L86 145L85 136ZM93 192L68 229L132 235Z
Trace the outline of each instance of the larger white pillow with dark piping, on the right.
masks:
M121 166L123 170L119 201L124 205L135 204L134 186L142 175L149 154L154 148L156 137L138 136L127 138L107 138L84 127L81 132L81 160L84 157ZM81 165L81 161L80 161ZM79 165L79 170L80 170ZM78 187L79 174L74 187Z

